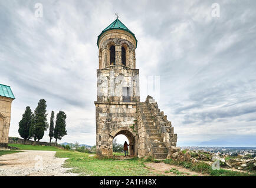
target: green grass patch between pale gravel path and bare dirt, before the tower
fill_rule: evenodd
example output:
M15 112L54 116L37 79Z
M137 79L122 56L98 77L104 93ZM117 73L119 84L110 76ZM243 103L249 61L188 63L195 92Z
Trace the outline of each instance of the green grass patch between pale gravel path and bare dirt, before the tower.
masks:
M68 157L65 167L73 167L69 172L81 173L81 176L154 176L138 158L127 160L99 159L88 157L88 153L58 151L56 157Z

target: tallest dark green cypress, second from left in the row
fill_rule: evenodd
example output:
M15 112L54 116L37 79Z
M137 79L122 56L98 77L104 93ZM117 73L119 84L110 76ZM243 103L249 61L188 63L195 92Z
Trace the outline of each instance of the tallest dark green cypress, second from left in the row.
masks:
M41 140L45 130L48 128L46 107L46 101L40 99L33 115L31 129L29 129L29 135L33 137L35 141Z

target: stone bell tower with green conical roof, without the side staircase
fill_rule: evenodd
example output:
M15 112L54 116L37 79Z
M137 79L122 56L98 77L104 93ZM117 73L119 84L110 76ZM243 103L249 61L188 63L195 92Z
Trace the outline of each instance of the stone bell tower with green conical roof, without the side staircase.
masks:
M130 154L136 155L132 129L140 101L139 70L136 69L135 35L117 18L98 36L96 139L97 153L111 156L113 138L126 135Z

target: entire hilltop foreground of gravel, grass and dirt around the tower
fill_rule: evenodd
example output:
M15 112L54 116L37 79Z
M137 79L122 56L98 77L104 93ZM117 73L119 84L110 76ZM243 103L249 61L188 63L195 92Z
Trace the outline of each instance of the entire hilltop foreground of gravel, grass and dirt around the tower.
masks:
M19 147L31 150L0 151L0 176L255 176L232 170L209 170L209 165L202 163L178 164L170 159L138 159L121 153L115 153L114 159L99 159L89 153L53 146Z

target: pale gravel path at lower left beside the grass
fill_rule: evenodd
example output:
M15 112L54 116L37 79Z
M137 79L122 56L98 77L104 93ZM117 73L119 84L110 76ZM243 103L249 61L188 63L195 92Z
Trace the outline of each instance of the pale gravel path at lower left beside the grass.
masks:
M55 157L56 152L22 150L0 156L0 176L77 176L66 173L62 164L68 158Z

